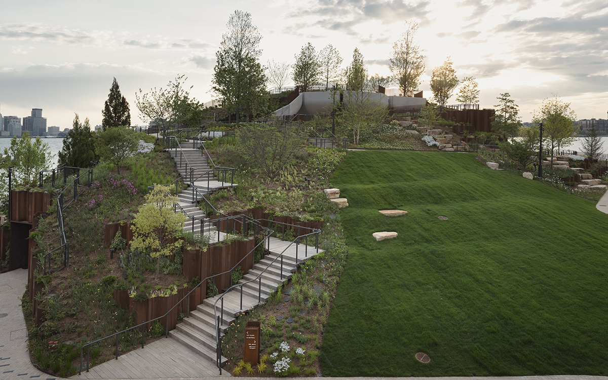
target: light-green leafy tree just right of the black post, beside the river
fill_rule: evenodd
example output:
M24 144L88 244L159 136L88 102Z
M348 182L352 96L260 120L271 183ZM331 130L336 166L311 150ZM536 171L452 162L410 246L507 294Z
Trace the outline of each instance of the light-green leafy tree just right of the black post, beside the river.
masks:
M544 123L543 137L551 149L551 168L553 167L554 150L568 145L576 139L576 113L566 103L554 95L542 101L541 107L533 112L532 122Z

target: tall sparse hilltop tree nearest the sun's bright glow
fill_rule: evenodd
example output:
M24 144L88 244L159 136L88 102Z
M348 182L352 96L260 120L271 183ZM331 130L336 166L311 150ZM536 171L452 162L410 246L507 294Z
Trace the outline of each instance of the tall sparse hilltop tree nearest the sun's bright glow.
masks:
M390 71L399 87L403 89L404 96L413 96L420 87L420 76L424 74L424 55L420 45L415 43L418 23L406 21L406 32L401 40L395 41L390 54Z

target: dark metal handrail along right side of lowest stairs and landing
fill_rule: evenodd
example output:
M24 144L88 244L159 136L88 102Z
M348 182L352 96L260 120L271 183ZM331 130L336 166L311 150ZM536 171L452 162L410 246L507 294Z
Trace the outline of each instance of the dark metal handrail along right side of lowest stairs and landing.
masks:
M213 315L214 315L214 319L215 319L215 344L216 344L216 353L217 353L216 366L219 369L219 375L222 374L222 367L221 367L222 346L221 346L221 336L220 336L221 335L221 331L220 331L221 322L220 321L224 320L224 296L226 294L228 294L230 291L232 291L232 289L235 289L238 286L240 286L241 303L240 303L239 309L242 310L243 309L243 285L258 281L258 304L259 304L259 303L261 303L262 275L268 270L268 268L270 268L272 266L272 264L274 264L278 260L278 258L281 258L280 272L281 272L281 279L283 279L283 255L285 254L286 250L288 250L289 247L291 247L292 244L294 244L294 243L296 244L295 245L295 264L298 263L298 246L300 244L300 238L302 238L302 237L305 237L305 247L306 247L305 257L308 257L308 236L309 235L316 236L315 247L316 247L317 253L319 253L319 233L321 232L320 230L313 229L310 227L294 226L293 224L288 224L288 223L270 221L269 219L257 219L257 221L267 221L268 223L283 224L283 233L285 233L284 232L285 226L298 227L299 229L304 228L304 229L308 229L308 230L313 230L313 232L306 233L305 235L300 236L299 235L300 231L298 231L299 236L294 238L294 240L292 240L291 243L289 243L289 245L286 246L285 249L283 249L283 251L277 257L275 257L274 260L272 260L271 263L269 263L268 266L266 266L266 268L264 268L257 277L255 277L252 280L247 280L240 284L230 286L230 288L226 289L226 291L218 299L216 299L215 302L213 303ZM297 241L297 243L296 243L296 241ZM270 248L270 239L268 241L268 247ZM219 300L221 300L221 309L220 309L220 315L218 316Z

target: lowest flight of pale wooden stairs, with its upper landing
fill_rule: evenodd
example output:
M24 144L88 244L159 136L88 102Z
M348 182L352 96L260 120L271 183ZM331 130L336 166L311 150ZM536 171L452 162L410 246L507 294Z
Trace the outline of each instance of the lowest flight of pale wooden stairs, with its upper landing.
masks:
M305 257L303 244L300 244L298 249L298 262L295 263L295 243L290 241L282 241L277 238L270 239L270 253L262 260L254 265L253 269L244 275L237 285L243 284L242 301L241 289L235 288L231 292L224 295L224 316L221 319L219 326L221 335L226 333L230 323L234 322L238 314L261 305L268 299L269 295L277 288L277 285L282 285L291 274L297 271L297 267L306 260L309 260L314 255L317 255L317 250L314 247L308 247L308 257ZM288 247L289 246L289 247ZM286 249L286 250L285 250ZM274 263L272 260L278 255L283 254L283 271L281 271L281 259L278 258ZM319 249L319 253L323 250ZM266 269L266 267L269 267ZM266 269L265 272L264 269ZM263 273L262 273L263 272ZM281 279L283 272L283 279ZM254 280L261 274L261 293L260 281L246 283ZM203 358L215 362L217 358L215 344L215 311L214 305L222 294L208 298L201 305L196 306L195 311L190 312L190 316L184 318L181 323L178 323L175 330L169 331L169 336L190 350L195 351ZM258 301L259 300L259 301ZM218 316L221 313L221 300L218 302ZM226 358L221 358L221 364L224 365Z

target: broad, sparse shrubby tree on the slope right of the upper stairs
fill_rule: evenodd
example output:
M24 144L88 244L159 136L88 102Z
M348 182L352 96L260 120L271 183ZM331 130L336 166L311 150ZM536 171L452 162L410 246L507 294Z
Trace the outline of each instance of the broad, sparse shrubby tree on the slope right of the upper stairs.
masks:
M304 142L302 134L290 126L279 131L276 126L246 125L238 129L237 138L246 156L271 182Z

